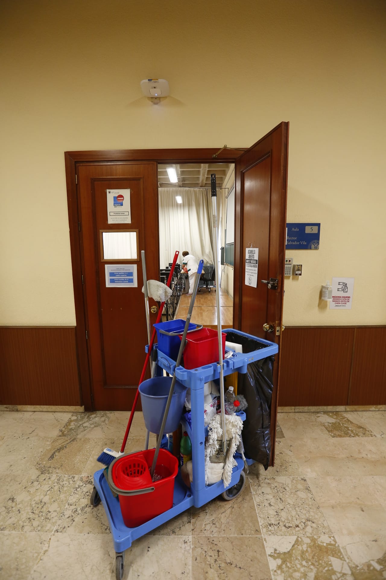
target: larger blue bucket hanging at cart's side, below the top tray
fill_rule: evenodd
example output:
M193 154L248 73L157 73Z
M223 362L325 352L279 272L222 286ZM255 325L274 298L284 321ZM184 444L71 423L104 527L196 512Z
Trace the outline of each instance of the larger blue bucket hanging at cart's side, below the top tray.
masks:
M138 387L146 429L150 433L160 433L171 382L171 376L156 376L144 380ZM164 433L172 433L178 429L187 390L188 387L176 380Z

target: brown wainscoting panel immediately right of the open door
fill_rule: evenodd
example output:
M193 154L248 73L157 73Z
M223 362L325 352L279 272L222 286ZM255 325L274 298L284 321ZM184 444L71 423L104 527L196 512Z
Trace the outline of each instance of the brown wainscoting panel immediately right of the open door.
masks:
M354 330L285 328L281 342L280 407L347 405Z

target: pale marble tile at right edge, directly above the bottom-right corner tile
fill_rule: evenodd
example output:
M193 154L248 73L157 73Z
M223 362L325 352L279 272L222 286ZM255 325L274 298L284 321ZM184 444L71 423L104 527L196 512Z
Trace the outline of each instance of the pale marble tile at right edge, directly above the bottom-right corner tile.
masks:
M380 503L322 503L320 509L333 534L385 534L386 509Z

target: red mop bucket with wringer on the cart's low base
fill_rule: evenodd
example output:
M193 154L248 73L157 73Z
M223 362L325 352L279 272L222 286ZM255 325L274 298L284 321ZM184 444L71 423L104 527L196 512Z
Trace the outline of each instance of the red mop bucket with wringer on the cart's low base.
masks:
M123 455L112 469L112 480L121 490L140 490L154 487L154 491L140 495L119 495L124 525L134 528L152 520L173 506L174 480L178 473L178 459L166 449L160 449L155 473L162 479L150 477L155 449Z

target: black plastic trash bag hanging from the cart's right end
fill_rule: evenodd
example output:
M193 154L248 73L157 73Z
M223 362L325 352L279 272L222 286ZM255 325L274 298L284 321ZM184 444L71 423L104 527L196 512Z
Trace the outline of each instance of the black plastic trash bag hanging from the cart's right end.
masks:
M242 345L243 353L263 349L266 345L258 340L227 332L226 340ZM242 427L245 455L268 469L271 454L271 400L273 391L274 357L249 362L245 374L238 373L237 394L248 403L247 418Z

